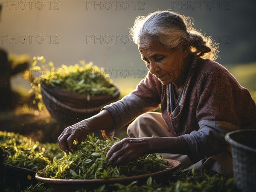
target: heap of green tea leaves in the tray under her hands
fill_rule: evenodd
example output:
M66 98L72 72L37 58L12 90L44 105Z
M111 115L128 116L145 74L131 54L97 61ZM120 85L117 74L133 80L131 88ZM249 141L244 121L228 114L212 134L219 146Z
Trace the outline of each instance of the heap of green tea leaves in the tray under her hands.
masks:
M116 138L117 139L117 138ZM126 165L113 166L105 155L111 146L120 140L100 140L92 134L81 142L78 150L64 154L63 158L53 159L38 172L41 177L61 179L107 179L143 175L172 168L163 157L155 154L144 155Z

